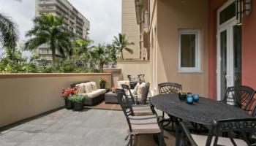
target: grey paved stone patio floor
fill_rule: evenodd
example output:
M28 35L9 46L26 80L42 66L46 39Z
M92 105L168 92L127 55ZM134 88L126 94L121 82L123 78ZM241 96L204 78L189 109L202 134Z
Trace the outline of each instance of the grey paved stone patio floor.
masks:
M127 127L127 121L121 111L73 112L62 109L1 131L0 145L122 146L127 145L127 141L124 140L127 136ZM175 139L170 137L170 139L167 138L167 145L174 144ZM156 144L151 136L146 136L139 137L135 145Z

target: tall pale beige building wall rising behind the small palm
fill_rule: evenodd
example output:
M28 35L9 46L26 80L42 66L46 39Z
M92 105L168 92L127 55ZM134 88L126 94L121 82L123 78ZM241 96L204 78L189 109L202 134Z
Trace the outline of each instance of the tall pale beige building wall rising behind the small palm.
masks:
M140 26L136 21L134 0L122 0L121 25L121 33L127 34L129 42L135 43L129 46L134 53L130 54L124 50L124 58L140 58Z

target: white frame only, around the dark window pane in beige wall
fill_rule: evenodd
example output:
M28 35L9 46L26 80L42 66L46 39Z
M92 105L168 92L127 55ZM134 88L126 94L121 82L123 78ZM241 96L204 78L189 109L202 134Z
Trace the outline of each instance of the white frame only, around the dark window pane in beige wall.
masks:
M181 67L181 35L195 34L195 67ZM178 31L178 72L201 72L201 31L200 29L180 29Z

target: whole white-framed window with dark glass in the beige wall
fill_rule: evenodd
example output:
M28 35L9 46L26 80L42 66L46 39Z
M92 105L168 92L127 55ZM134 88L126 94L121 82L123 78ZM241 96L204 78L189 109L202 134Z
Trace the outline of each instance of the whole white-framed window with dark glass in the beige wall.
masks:
M200 72L200 30L178 31L178 71Z

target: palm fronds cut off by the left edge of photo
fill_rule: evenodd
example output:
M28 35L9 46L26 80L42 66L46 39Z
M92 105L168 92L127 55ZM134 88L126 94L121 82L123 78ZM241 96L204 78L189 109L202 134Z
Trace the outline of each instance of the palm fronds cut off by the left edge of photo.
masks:
M16 42L18 42L16 27L17 25L9 17L0 13L0 42L3 47L15 49Z

